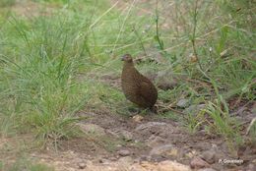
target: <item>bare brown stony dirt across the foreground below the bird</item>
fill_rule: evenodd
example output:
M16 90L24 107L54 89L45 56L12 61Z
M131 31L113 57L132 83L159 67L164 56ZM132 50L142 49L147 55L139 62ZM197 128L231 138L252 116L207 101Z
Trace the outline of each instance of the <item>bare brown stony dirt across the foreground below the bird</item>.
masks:
M113 1L114 3L115 1ZM140 1L154 3L153 1ZM118 4L125 8L126 2ZM34 6L34 5L32 5ZM142 9L141 13L152 13ZM119 88L119 78L102 78L104 83ZM238 110L238 109L237 109ZM254 114L252 106L243 108L241 113L248 116L248 122ZM32 150L29 156L57 171L98 170L98 171L185 171L191 167L213 170L253 170L256 165L256 146L248 144L244 148L231 148L224 139L206 134L204 130L190 135L179 122L160 119L154 115L125 117L107 111L81 111L81 116L90 119L79 124L87 134L84 138L58 142L58 151L54 146L42 150ZM3 139L4 145L20 142ZM16 156L6 152L0 159L12 162ZM224 161L236 159L235 163ZM242 161L242 162L239 162ZM182 163L182 164L178 164Z

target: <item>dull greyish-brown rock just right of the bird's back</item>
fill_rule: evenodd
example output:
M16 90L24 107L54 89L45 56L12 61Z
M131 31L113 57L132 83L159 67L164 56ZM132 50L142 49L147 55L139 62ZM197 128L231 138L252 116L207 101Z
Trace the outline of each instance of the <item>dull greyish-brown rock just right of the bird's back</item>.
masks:
M160 71L156 78L156 83L157 86L162 90L172 89L178 85L171 70Z

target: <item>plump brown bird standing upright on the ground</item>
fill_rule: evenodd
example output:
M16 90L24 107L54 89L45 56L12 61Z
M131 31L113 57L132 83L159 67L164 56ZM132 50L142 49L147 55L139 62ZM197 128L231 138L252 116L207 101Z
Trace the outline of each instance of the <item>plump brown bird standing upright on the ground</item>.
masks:
M125 54L121 60L124 61L121 85L125 97L138 106L150 108L156 113L154 108L158 99L156 86L136 70L130 54Z

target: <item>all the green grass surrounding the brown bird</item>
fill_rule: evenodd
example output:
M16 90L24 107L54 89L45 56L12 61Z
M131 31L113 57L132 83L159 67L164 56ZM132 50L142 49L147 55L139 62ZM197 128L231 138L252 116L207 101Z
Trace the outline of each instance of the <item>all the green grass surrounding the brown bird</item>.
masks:
M119 56L129 52L163 60L140 64L140 71L171 69L177 78L187 78L160 91L160 101L204 102L213 134L239 138L238 128L231 133L235 118L222 105L233 97L255 100L252 1L173 1L168 14L160 7L144 14L134 4L121 11L106 0L33 2L45 10L58 6L30 19L13 13L0 17L0 135L61 140L76 135L82 109L128 113L121 91L98 80L103 74L119 76ZM195 115L189 113L185 122L191 132L206 124ZM163 117L176 118L170 112Z

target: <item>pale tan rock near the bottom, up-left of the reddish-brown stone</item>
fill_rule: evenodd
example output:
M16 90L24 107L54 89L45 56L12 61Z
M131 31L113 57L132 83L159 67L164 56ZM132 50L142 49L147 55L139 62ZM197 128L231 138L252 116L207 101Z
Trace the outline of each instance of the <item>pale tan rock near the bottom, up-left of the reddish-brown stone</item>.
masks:
M173 152L175 151L175 152ZM167 154L167 155L172 155L172 154L177 154L177 149L173 147L172 144L164 144L164 145L160 145L160 146L156 146L154 147L151 151L150 151L150 155L163 155L163 154Z

